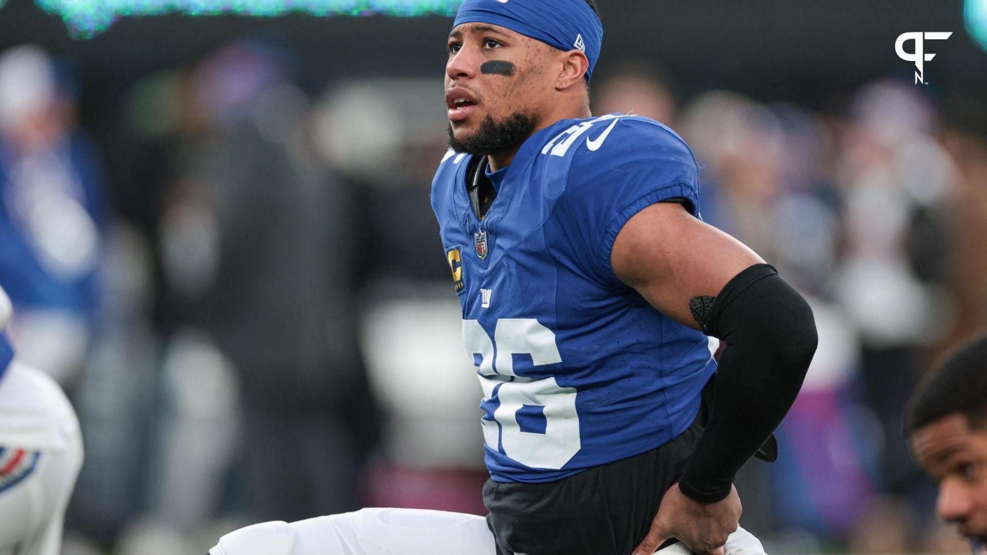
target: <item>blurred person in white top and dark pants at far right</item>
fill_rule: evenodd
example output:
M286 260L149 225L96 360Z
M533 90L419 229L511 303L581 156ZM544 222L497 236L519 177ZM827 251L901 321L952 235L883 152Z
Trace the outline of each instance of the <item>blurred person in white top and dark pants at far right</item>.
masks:
M859 523L862 551L906 550L932 522L932 493L899 431L923 354L952 325L952 300L941 285L945 207L957 173L935 135L937 110L908 83L874 82L854 99L839 137L835 177L846 240L831 286L860 330L860 375L880 432L880 496Z

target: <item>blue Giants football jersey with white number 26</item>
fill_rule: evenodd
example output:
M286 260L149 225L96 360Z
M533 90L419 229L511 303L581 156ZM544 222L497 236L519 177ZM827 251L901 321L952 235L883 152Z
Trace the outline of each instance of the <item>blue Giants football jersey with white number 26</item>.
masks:
M446 154L431 201L483 386L493 479L555 481L684 432L718 344L650 306L610 253L650 204L681 198L699 217L689 147L651 119L559 121L521 146L483 220L471 158Z

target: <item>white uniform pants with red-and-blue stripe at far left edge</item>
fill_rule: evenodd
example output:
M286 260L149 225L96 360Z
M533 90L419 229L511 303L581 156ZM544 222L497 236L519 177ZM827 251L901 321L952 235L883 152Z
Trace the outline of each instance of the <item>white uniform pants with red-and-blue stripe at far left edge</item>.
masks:
M0 333L9 319L0 289ZM14 360L0 377L0 555L58 555L81 466L79 421L65 394Z

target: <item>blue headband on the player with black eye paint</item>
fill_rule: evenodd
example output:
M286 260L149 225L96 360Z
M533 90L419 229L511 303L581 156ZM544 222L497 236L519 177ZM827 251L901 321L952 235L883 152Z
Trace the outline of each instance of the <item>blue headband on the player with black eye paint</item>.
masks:
M586 81L603 45L603 24L585 0L466 0L452 26L464 23L499 25L563 51L582 50L589 58Z

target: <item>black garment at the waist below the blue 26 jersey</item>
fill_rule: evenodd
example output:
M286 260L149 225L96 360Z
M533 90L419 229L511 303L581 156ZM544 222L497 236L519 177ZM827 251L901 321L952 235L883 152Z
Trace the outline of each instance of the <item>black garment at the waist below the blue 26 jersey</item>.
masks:
M631 555L702 435L704 410L671 441L547 484L488 480L498 555Z

